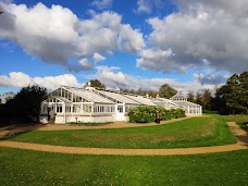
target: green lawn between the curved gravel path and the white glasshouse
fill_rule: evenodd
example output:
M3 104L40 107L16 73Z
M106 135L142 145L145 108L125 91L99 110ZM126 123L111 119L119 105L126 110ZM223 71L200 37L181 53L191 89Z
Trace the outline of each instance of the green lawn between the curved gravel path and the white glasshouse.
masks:
M99 148L178 148L236 142L225 121L216 116L133 128L33 131L10 140Z

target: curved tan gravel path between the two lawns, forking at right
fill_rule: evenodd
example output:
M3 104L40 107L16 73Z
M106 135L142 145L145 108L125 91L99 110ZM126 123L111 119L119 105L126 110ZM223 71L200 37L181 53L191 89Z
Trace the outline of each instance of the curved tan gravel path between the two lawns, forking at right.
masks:
M75 153L75 154L119 154L119 156L172 156L172 154L198 154L212 152L226 152L233 150L248 149L248 135L236 123L227 122L238 142L225 146L176 148L176 149L109 149L109 148L80 148L51 146L41 144L29 144L18 141L0 141L2 147L29 149L46 152Z

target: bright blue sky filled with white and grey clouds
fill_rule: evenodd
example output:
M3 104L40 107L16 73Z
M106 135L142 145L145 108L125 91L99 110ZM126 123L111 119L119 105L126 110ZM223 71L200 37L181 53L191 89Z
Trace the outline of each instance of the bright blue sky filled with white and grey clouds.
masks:
M246 0L1 0L0 94L38 84L214 89L248 70Z

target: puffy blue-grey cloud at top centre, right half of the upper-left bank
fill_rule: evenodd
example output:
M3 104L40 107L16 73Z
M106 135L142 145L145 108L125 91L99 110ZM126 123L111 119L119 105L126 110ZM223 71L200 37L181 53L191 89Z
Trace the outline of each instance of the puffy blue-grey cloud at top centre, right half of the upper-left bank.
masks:
M113 12L96 14L82 21L78 33L83 34L80 48L84 53L103 53L119 50L136 53L145 47L142 34L128 24L121 24L122 17Z

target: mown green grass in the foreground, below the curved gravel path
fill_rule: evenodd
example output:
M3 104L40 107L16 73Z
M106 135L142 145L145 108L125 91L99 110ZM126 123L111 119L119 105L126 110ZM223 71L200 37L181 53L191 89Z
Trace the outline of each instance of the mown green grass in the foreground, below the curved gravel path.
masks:
M123 157L79 156L0 148L1 186L248 185L248 150L223 153Z

